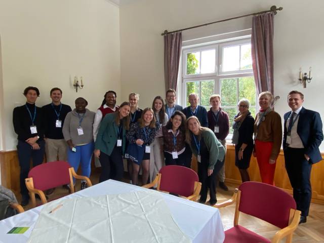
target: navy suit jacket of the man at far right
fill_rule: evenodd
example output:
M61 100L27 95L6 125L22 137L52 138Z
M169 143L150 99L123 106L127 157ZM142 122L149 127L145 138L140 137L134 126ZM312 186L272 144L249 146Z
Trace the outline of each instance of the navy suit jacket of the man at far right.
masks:
M282 141L282 147L287 148L287 120L291 111L284 115L284 140ZM322 121L318 112L313 110L305 109L304 107L300 110L299 119L297 124L297 133L302 140L305 148L305 154L310 159L309 161L313 164L319 162L322 157L319 151L319 145L323 141Z

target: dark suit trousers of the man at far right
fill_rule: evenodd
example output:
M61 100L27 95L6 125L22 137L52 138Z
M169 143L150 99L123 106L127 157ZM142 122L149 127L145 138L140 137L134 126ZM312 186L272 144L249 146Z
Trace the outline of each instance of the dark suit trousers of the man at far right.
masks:
M312 163L306 160L303 148L285 148L285 164L290 183L293 187L294 199L297 210L302 216L308 216L312 188L310 184L310 172Z

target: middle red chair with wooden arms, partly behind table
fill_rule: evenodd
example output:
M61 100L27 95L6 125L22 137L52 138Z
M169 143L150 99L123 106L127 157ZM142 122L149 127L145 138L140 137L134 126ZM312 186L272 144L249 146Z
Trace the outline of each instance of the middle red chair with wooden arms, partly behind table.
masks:
M201 189L197 173L183 166L161 168L154 181L143 187L150 188L156 184L158 191L178 194L192 201L196 200Z

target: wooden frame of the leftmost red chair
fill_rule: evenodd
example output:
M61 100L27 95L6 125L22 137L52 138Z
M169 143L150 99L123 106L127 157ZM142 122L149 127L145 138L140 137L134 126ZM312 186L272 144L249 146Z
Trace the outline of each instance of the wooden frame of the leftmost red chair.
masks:
M85 181L87 181L88 186L92 186L92 183L91 183L90 179L88 177L86 177L86 176L77 175L75 173L73 167L70 167L69 168L69 174L70 174L70 188L71 188L71 193L74 193L73 177L75 179L85 180ZM30 192L31 205L32 205L33 208L36 207L35 193L38 194L39 197L41 197L42 204L46 204L47 203L45 193L43 191L41 191L41 190L38 190L38 189L35 189L34 188L34 183L33 183L32 177L26 178L25 179L25 184L26 184L26 187L27 187L28 191Z

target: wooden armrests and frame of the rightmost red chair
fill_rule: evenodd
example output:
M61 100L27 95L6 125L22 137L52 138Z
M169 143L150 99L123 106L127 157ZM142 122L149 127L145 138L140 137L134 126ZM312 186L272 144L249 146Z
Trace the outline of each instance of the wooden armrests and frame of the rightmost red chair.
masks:
M236 201L235 215L234 215L234 226L238 225L238 217L239 217L238 207L239 207L240 193L241 193L241 191L236 188L233 193L233 196L230 199L224 201L223 203L214 205L215 208L220 209L220 208L224 208L228 205L231 205L231 204L235 203L235 201ZM293 239L293 233L299 225L300 216L301 216L301 212L299 210L290 209L289 225L285 228L278 230L275 233L275 235L273 236L271 243L279 243L280 240L286 236L287 236L286 243L291 243L292 239Z

